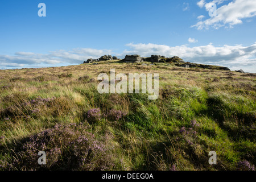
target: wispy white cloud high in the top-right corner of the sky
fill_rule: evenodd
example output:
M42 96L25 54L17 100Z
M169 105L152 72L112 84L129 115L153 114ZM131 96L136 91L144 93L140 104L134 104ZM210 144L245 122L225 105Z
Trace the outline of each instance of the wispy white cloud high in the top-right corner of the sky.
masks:
M224 0L215 0L205 4L205 9L209 10L211 3L222 3ZM235 0L223 5L217 9L217 16L211 17L204 21L199 21L191 27L196 27L198 30L208 29L209 27L220 28L228 26L232 28L236 24L241 24L242 19L256 16L256 1L255 0Z

